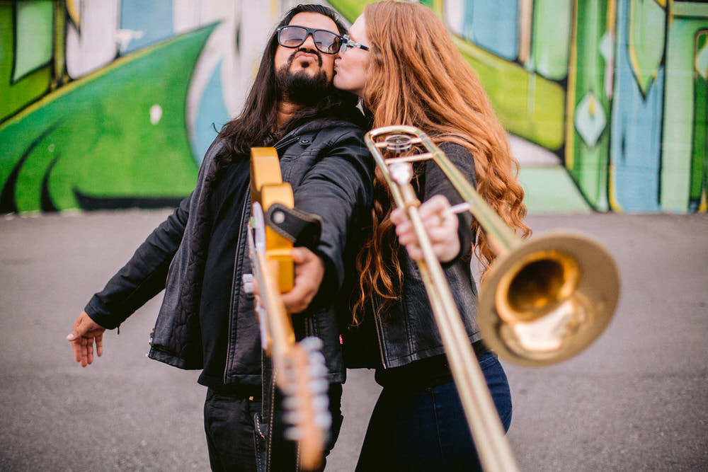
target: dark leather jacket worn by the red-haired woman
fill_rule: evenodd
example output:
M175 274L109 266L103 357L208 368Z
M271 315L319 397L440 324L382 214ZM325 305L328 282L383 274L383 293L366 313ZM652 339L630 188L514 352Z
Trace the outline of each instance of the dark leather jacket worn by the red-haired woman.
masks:
M467 180L474 183L472 154L458 144L445 143L440 149L445 151ZM452 205L462 202L457 190L435 163L426 163L425 173L418 183L417 193L421 202L437 194L447 197ZM481 336L475 321L477 294L470 270L470 224L472 215L469 212L459 214L461 251L455 260L442 264L442 268L467 336L474 343ZM362 325L346 330L344 355L347 367L389 369L445 352L416 262L409 257L405 248L400 248L398 258L404 272L401 297L388 313L382 313L380 317L374 315L377 297L371 297ZM350 321L351 318L348 319Z

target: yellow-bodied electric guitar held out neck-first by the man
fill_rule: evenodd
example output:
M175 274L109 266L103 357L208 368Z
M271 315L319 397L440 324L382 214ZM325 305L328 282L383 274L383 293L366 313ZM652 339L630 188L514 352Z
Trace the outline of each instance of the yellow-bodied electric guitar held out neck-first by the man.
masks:
M275 384L284 396L283 421L287 425L284 435L298 443L299 466L314 470L324 457L332 421L327 369L319 338L309 337L295 342L292 320L280 297L294 284L293 245L271 224L271 221L282 223L285 212L292 207L292 188L289 183L282 182L278 153L272 147L252 148L248 238L253 275L260 293L256 312L261 344L273 364ZM273 405L273 398L270 398L270 404ZM268 446L273 437L273 408L270 409ZM266 449L268 457L272 454L269 449Z

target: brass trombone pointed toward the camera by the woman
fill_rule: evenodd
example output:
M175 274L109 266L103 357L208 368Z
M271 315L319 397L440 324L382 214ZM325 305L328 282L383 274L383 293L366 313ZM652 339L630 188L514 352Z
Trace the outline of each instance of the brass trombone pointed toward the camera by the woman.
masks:
M523 241L420 129L380 127L367 132L364 140L396 207L406 209L418 236L423 251L423 260L416 261L418 271L482 467L486 471L518 471L418 214L420 202L411 185L411 162L433 159L440 166L464 199L460 205L472 212L496 250L497 258L481 284L477 323L485 345L503 359L549 365L569 359L593 343L617 306L619 273L615 262L605 248L578 234L547 234Z

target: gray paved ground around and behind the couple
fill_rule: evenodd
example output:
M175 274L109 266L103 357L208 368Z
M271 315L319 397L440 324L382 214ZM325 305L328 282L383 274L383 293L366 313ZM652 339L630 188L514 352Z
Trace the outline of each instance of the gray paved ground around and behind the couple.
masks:
M0 220L0 469L207 470L196 372L144 357L154 299L81 369L64 336L164 217L97 212ZM577 229L622 272L610 327L554 367L505 364L523 471L708 470L708 215L530 217ZM159 298L159 297L158 297ZM328 470L351 471L379 387L349 372Z

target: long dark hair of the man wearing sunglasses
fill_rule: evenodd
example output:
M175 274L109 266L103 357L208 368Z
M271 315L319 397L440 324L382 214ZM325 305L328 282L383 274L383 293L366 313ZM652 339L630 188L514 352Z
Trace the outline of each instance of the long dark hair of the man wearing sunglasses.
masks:
M297 13L303 12L327 16L336 23L340 35L346 33L346 26L338 18L337 13L322 5L295 6L282 18L276 30L280 26L289 24ZM265 46L261 66L258 67L256 80L253 82L248 98L246 98L241 115L229 121L219 132L219 138L224 142L225 151L221 156L222 159L219 159L222 163L224 160L230 161L233 156L248 155L253 146L263 146L272 137L274 130L276 137L283 136L312 117L349 112L358 101L358 98L352 93L338 91L331 87L318 103L298 110L281 129L277 129L278 100L282 96L282 91L279 90L275 79L277 35L278 33L273 30L273 34L270 35L268 44Z

